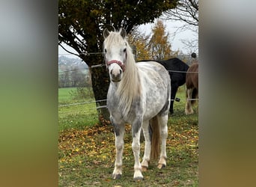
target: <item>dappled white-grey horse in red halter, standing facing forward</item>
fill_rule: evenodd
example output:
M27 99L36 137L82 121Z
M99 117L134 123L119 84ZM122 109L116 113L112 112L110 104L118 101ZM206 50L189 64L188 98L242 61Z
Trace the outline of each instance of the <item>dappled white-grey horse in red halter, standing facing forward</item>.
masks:
M116 158L113 178L120 179L122 175L124 127L125 123L129 123L132 125L132 151L135 158L133 179L142 180L141 171L147 170L150 153L158 157L159 135L162 144L157 167L166 166L167 122L171 100L170 76L165 67L154 61L135 63L124 28L111 32L105 29L103 36L106 66L111 80L107 105L115 131ZM141 128L145 147L140 163ZM152 139L149 129L152 131Z

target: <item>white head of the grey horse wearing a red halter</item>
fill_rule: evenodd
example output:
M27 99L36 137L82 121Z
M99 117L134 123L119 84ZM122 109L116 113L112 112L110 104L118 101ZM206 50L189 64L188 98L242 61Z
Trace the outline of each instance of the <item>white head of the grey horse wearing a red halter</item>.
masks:
M127 32L121 28L119 32L103 31L104 53L106 67L109 69L109 76L112 82L120 82L125 70L127 61Z

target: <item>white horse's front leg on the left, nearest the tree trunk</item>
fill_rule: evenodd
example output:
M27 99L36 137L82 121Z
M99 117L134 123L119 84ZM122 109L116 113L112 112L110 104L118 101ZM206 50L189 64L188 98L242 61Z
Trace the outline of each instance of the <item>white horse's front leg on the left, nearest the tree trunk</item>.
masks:
M123 165L123 152L124 152L124 124L113 123L115 130L115 169L112 177L115 180L119 180L122 176L122 165Z

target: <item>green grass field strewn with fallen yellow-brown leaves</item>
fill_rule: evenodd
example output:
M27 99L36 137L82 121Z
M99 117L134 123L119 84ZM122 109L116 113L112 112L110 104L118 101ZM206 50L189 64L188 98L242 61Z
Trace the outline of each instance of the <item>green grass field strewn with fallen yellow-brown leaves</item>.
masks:
M59 90L61 103L71 103L65 89ZM66 94L66 96L64 96ZM159 170L156 161L133 181L133 154L130 126L126 126L123 176L112 180L115 136L111 125L98 124L95 103L59 107L59 186L198 186L198 112L184 114L185 93L180 88L174 114L168 120L167 167ZM67 101L65 101L65 99ZM71 99L71 100L69 100ZM90 100L88 98L87 100ZM141 157L144 143L141 144Z

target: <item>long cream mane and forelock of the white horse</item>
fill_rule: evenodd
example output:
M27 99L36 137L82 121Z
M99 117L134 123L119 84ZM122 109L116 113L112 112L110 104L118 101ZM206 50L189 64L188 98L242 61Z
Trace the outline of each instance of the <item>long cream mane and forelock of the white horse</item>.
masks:
M119 105L123 108L123 115L127 117L131 109L132 102L141 95L141 82L138 76L138 70L135 64L135 59L132 54L132 49L126 39L121 37L119 32L110 32L109 37L104 41L106 49L110 49L115 43L117 45L127 46L126 69L121 82L118 85L116 93L118 94ZM120 46L121 47L121 46Z

